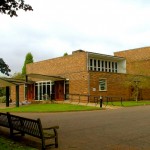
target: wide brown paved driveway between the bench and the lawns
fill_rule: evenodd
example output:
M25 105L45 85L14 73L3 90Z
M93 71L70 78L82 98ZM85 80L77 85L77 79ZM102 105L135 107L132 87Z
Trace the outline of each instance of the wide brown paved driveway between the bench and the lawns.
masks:
M58 150L150 150L150 106L19 115L59 125Z

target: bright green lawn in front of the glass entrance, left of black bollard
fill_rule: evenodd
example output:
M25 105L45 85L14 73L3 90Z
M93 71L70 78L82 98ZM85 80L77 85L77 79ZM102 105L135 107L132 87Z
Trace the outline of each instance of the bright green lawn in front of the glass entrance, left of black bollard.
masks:
M99 108L92 106L81 106L72 104L30 104L20 107L0 109L2 112L69 112L69 111L89 111Z

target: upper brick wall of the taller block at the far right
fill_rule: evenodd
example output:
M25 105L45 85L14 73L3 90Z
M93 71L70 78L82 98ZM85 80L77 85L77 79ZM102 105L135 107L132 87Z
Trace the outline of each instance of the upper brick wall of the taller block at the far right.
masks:
M114 55L126 58L127 73L150 76L150 47L119 51Z

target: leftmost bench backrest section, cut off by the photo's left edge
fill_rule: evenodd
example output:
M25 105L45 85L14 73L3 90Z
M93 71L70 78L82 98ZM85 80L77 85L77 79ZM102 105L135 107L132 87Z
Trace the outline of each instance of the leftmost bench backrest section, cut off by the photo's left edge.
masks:
M0 126L9 128L8 114L0 112Z

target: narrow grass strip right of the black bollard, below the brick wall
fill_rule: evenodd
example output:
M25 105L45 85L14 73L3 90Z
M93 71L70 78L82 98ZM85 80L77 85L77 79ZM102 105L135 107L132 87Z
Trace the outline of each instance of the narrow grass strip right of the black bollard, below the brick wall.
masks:
M150 101L123 101L122 105L121 102L108 102L108 104L106 102L103 103L104 106L105 105L112 105L112 106L123 106L123 107L132 107L132 106L144 106L144 105L150 105Z

